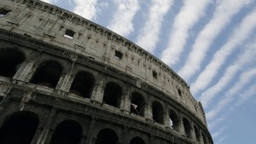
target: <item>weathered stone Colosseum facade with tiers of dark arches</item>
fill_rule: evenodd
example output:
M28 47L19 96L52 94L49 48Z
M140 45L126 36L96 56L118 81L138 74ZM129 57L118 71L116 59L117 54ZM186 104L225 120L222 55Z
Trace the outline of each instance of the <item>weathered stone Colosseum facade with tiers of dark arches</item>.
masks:
M213 144L165 63L39 0L0 3L1 144Z

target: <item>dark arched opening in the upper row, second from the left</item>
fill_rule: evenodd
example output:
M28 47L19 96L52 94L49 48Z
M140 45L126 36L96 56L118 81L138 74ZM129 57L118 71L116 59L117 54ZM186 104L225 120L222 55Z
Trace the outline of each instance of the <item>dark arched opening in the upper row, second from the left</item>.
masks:
M44 61L39 65L31 83L55 89L61 78L62 69L63 67L58 62L53 60Z

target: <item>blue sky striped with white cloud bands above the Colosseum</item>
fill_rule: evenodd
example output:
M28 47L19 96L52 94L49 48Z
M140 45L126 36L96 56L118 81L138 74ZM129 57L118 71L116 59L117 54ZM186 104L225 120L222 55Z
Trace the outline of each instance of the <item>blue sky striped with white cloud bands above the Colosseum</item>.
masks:
M215 144L256 137L256 0L44 0L166 62L201 101Z

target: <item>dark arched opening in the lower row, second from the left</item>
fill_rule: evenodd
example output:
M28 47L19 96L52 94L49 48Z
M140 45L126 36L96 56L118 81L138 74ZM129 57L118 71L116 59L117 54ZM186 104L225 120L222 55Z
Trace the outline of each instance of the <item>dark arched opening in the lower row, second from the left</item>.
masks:
M82 126L74 120L58 124L49 144L79 144L83 134Z

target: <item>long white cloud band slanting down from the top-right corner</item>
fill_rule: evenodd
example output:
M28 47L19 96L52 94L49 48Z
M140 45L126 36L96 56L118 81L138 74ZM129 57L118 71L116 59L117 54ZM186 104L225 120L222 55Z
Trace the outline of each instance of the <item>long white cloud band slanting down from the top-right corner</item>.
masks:
M188 60L178 72L184 79L188 80L195 72L200 70L201 63L205 59L212 42L218 37L218 33L230 23L230 20L236 13L252 2L253 0L236 2L234 0L219 1L212 19L201 30L198 37L196 37Z

